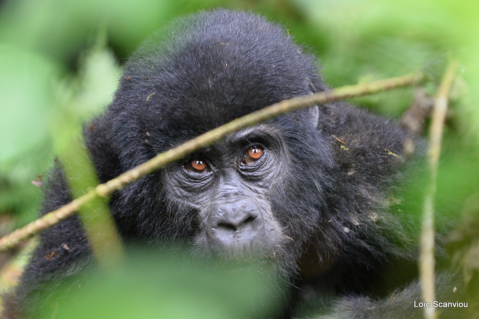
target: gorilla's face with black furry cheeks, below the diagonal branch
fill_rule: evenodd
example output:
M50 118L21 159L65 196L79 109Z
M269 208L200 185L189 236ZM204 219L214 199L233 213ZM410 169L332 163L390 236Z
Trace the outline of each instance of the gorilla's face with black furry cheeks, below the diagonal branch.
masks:
M313 107L231 134L168 165L157 179L126 187L122 207L142 208L131 214L149 226L140 232L150 238L181 239L224 260L272 260L283 274L295 274L304 243L322 223L330 183L330 146L317 113Z

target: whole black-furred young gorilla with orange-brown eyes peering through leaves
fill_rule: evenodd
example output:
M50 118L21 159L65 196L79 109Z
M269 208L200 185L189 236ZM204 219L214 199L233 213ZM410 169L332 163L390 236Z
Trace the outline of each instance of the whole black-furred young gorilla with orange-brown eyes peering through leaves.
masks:
M105 182L234 118L324 90L315 58L282 27L250 13L204 11L133 53L113 102L84 138ZM233 133L117 191L110 206L124 239L274 259L299 287L285 316L314 304L328 318L419 318L417 280L401 273L416 267L414 226L407 212L391 210L393 183L414 163L403 155L406 140L420 157L421 139L395 121L346 103L314 106ZM59 166L45 191L43 213L71 200ZM44 231L5 298L4 318L88 255L78 217Z

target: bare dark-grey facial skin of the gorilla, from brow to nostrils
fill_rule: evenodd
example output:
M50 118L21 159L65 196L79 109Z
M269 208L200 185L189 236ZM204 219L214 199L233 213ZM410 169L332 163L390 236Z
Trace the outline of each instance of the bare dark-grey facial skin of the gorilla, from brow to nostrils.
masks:
M165 189L198 212L197 244L217 252L272 255L288 238L270 192L284 182L289 156L276 129L248 128L170 165Z

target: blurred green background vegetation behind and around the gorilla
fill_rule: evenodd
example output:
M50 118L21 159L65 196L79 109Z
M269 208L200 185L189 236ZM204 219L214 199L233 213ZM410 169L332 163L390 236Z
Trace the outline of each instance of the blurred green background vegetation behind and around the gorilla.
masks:
M333 87L423 69L433 80L426 89L434 94L447 61L459 61L436 207L459 222L451 254L473 285L479 269L478 258L471 257L479 249L475 0L1 0L0 235L37 217L41 191L31 181L79 134L81 121L111 101L122 62L138 44L176 16L217 7L281 22L318 56ZM399 118L412 98L411 88L354 102ZM421 207L413 206L405 205L417 210L419 220ZM148 317L135 317L142 316Z

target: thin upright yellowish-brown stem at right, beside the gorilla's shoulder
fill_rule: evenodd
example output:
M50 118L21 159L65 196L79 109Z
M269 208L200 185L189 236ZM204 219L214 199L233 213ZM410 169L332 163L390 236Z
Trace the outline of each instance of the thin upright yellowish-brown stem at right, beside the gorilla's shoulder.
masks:
M436 194L437 167L441 153L444 120L449 101L449 91L456 74L457 63L453 61L441 80L433 106L433 117L429 131L429 185L424 196L424 211L422 214L421 252L419 259L419 276L421 280L422 298L430 302L431 307L424 308L424 318L435 319L434 292L434 198Z

